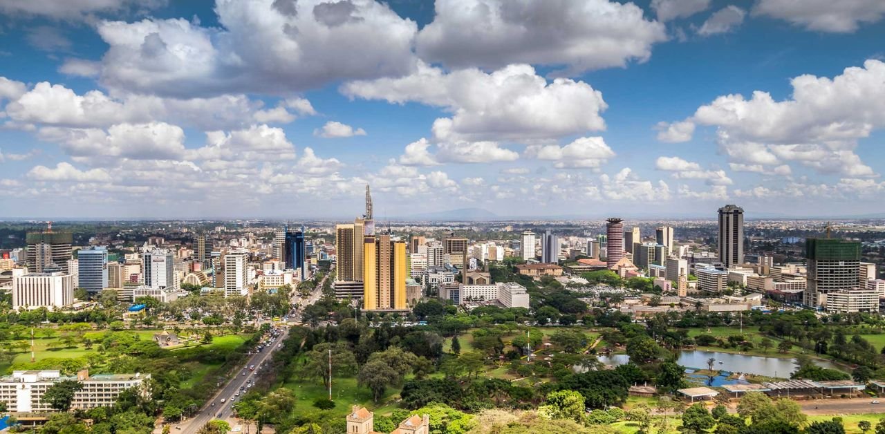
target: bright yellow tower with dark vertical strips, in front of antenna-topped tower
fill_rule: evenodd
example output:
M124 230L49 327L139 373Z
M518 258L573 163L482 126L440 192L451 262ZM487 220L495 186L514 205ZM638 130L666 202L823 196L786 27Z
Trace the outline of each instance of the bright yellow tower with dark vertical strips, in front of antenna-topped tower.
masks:
M363 239L363 308L404 309L405 242L391 240L389 234L368 235Z

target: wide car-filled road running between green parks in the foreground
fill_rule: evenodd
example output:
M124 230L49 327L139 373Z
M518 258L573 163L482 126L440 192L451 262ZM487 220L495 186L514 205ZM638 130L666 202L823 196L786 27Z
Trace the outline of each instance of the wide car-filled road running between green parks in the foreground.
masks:
M271 354L277 349L277 345L281 344L283 339L286 339L286 336L289 335L289 328L283 327L280 333L280 336L277 339L274 339L270 346L266 347L262 352L258 354L252 354L249 358L248 362L245 362L245 366L255 365L258 367L261 363L265 362ZM242 373L245 372L246 375L243 376ZM240 386L246 385L246 381L255 376L260 376L262 374L261 370L257 370L254 372L250 372L249 369L240 369L236 371L236 376L231 378L227 385L215 395L212 396L212 399L209 402L206 402L203 408L200 408L199 414L190 418L188 421L178 424L181 427L181 430L174 429L173 433L181 433L181 434L196 434L196 431L203 428L207 422L211 421L213 418L216 418L217 415L221 414L221 419L228 419L231 417L233 411L231 410L231 402L230 397L234 396L236 392L240 391ZM242 394L241 394L242 396ZM221 399L225 399L225 403L221 403ZM212 407L212 403L215 403L215 407ZM231 425L233 428L233 424Z

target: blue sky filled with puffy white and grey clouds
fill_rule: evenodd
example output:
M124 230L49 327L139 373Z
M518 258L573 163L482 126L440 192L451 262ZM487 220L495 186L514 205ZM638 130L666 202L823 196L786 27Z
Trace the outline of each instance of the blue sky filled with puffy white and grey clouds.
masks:
M881 0L0 0L0 218L885 213Z

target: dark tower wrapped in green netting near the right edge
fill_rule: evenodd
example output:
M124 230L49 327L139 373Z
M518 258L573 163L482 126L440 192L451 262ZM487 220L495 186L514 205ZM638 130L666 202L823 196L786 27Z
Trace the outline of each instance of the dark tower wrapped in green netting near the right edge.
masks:
M826 306L827 293L857 289L860 285L859 241L809 238L805 240L805 258L808 260L808 286L803 297L806 306Z

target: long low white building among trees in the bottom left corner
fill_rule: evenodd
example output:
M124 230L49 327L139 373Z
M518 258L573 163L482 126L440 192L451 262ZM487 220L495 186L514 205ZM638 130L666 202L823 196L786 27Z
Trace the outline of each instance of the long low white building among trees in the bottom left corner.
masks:
M88 370L81 370L76 376L62 376L58 370L16 370L11 376L0 377L0 402L6 404L7 411L37 413L56 411L49 402L43 401L43 393L51 385L62 380L77 380L83 388L75 392L71 408L89 409L112 407L120 392L138 388L142 397L150 398L145 380L150 374L99 374L89 377Z

